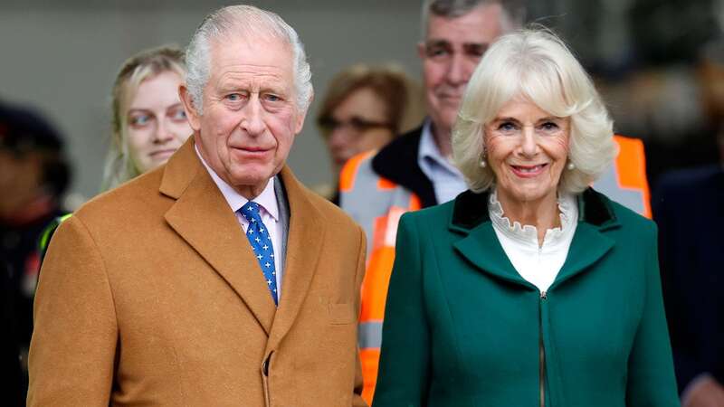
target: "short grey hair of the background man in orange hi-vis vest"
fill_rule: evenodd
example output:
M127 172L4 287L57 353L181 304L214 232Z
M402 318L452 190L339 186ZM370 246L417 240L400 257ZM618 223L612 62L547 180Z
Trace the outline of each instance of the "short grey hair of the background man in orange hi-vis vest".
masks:
M430 14L444 18L457 18L482 5L500 5L500 27L503 33L519 29L525 18L525 7L516 0L424 0L420 24L420 38L427 36Z

